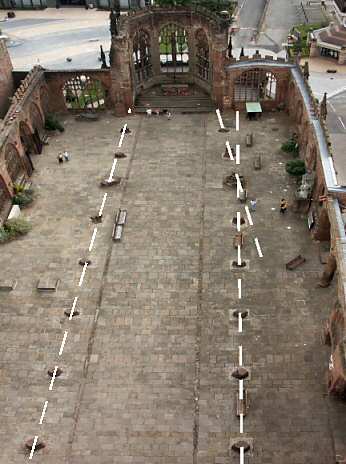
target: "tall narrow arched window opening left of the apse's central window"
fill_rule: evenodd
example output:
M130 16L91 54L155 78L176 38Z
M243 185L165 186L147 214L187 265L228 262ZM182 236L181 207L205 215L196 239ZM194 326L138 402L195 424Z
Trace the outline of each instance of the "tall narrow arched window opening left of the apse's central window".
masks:
M145 31L138 31L133 40L133 63L136 83L152 76L150 38Z

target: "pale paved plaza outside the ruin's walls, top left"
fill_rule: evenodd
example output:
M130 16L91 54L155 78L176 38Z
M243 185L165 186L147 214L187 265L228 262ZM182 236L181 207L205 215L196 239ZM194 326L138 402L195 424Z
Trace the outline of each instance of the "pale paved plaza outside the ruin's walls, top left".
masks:
M110 49L109 12L79 8L16 11L0 21L9 37L8 50L16 71L40 64L49 69L100 68L100 45ZM72 58L67 62L66 58Z

